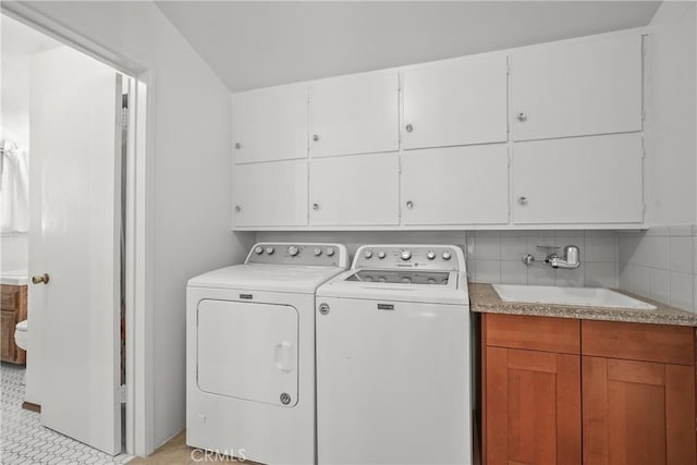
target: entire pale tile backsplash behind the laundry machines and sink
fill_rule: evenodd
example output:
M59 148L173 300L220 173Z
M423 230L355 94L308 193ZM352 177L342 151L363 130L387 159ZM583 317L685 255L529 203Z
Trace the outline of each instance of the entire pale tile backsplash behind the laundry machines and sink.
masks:
M466 249L470 282L620 287L697 313L697 225L648 231L338 231L260 232L257 241L339 242L355 253L362 244L455 244ZM538 246L577 245L580 267L554 270Z

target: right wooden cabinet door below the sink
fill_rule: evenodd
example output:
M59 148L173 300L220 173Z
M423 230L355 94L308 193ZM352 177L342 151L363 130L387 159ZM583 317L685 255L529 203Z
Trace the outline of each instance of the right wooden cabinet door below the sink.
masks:
M585 465L695 464L690 365L583 357Z

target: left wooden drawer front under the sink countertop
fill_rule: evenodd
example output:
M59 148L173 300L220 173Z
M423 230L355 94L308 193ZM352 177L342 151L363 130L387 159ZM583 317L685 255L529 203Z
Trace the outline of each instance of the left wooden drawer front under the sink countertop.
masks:
M487 345L580 353L580 325L576 319L485 314L481 321Z

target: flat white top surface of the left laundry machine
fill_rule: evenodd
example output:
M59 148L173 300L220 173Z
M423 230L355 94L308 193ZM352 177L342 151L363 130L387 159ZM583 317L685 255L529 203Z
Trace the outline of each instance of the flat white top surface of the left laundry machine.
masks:
M339 267L249 264L209 271L188 280L189 287L314 294L317 287L344 271Z

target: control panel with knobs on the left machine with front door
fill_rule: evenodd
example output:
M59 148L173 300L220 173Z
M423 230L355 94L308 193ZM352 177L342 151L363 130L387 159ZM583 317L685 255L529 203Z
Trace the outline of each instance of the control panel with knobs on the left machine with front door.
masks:
M259 243L252 247L245 264L310 265L342 267L348 253L342 244Z

